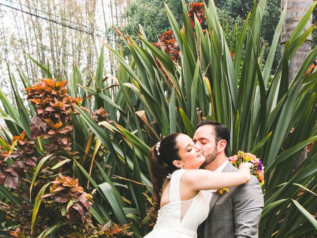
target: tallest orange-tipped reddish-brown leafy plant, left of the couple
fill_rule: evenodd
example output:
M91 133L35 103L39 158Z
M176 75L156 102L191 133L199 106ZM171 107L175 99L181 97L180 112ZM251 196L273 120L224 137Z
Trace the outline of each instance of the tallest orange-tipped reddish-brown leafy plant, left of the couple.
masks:
M70 151L73 139L70 111L76 113L74 105L81 98L72 98L65 88L67 81L41 79L41 83L26 88L27 99L36 107L37 116L31 120L31 137L43 134L50 139L47 152Z

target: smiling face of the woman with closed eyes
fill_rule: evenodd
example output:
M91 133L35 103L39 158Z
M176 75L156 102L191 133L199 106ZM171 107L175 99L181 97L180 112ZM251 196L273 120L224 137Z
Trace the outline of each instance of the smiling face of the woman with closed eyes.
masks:
M175 162L175 166L183 167L183 169L193 170L205 162L205 156L202 153L202 148L193 142L188 135L180 134L177 136L178 153L181 158L180 161Z

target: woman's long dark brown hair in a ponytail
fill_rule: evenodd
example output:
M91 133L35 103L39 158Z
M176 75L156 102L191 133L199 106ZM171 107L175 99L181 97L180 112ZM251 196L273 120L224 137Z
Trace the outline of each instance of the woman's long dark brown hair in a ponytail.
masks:
M154 206L150 210L150 218L156 222L159 206L160 192L163 182L168 174L179 169L173 165L174 160L180 160L176 138L180 133L173 133L165 136L159 144L159 151L156 150L157 144L151 148L150 165L151 165L151 182L153 184L152 202ZM159 152L159 155L158 155Z

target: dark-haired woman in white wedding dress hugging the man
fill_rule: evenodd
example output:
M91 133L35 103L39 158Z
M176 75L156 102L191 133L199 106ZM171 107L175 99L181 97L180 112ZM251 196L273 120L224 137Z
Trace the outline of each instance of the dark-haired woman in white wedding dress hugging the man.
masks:
M145 238L197 238L197 228L209 214L209 203L201 190L237 186L250 180L247 163L241 164L237 172L214 173L199 169L204 161L201 147L185 134L167 135L152 147L154 206L149 215L156 225Z

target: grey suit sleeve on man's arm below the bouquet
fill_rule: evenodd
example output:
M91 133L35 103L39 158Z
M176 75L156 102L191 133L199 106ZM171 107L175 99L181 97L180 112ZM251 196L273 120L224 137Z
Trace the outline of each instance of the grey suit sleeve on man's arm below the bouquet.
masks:
M236 238L258 238L258 228L264 206L263 192L258 179L238 186L233 198Z

